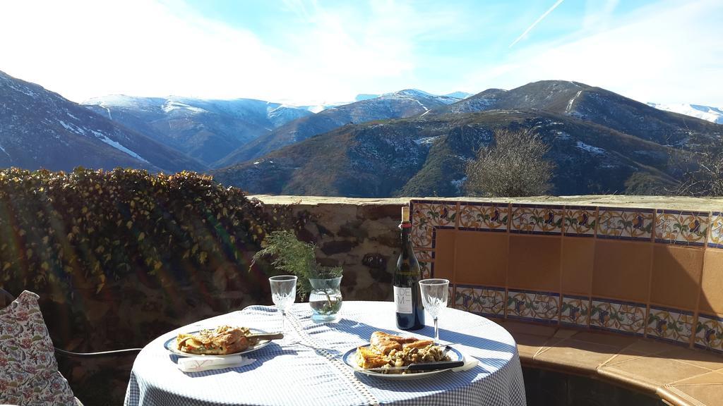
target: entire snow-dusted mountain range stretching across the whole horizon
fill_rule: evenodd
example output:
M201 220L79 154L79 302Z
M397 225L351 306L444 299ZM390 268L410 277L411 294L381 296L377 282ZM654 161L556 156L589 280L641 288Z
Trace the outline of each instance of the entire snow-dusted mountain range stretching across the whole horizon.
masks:
M524 127L550 146L555 194L621 193L636 173L674 183L675 157L720 142L719 112L556 80L476 95L358 95L346 105L124 95L79 105L0 72L0 165L210 170L251 193L456 196L492 131Z

